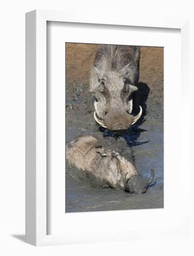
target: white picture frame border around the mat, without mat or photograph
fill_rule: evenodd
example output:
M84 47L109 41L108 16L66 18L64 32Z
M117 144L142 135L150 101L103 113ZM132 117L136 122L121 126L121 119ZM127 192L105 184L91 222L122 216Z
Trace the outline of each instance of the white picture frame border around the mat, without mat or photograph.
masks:
M135 19L118 17L110 13L99 17L98 13L89 13L86 16L82 13L42 10L26 14L26 242L38 246L114 241L114 236L105 239L103 231L90 240L86 240L81 230L78 230L74 239L72 236L65 237L60 234L47 235L47 21L181 29L181 89L187 91L188 20L152 20L139 19L139 17ZM188 106L187 96L183 97L182 101L184 106ZM187 109L189 110L189 107ZM184 115L186 126L188 121L189 111ZM182 140L181 145L188 150L187 140ZM184 171L186 184L189 179L188 162L187 157ZM187 198L188 189L184 194ZM187 234L189 226L187 200L184 205L185 209L181 212L182 219L178 228L154 230L152 236ZM147 233L147 229L134 230L133 238L142 238ZM119 240L122 239L121 237ZM132 236L126 236L126 239L132 239Z

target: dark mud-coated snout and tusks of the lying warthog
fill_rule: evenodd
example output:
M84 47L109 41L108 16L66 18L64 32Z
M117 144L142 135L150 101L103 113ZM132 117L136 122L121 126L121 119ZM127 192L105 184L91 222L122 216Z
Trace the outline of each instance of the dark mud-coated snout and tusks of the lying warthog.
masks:
M148 181L142 181L139 175L133 175L131 178L126 178L127 173L124 176L123 183L125 190L130 193L145 193L147 191L148 186L151 184L151 182L154 179L154 170L151 169L151 177Z

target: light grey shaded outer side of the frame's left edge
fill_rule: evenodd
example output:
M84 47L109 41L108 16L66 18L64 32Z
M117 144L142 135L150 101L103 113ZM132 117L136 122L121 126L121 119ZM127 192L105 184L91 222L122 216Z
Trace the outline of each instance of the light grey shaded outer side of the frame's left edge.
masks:
M26 13L26 243L36 245L36 11Z

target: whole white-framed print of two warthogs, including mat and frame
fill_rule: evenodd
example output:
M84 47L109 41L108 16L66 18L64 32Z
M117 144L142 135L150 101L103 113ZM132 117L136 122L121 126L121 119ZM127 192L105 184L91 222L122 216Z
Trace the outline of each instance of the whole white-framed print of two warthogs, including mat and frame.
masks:
M187 234L187 38L187 20L26 14L27 243Z

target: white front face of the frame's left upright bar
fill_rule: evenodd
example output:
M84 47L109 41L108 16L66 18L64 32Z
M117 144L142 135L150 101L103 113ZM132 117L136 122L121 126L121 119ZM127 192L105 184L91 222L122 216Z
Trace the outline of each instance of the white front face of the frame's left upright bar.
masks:
M47 236L47 20L36 11L36 245Z

